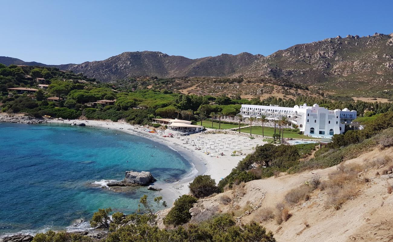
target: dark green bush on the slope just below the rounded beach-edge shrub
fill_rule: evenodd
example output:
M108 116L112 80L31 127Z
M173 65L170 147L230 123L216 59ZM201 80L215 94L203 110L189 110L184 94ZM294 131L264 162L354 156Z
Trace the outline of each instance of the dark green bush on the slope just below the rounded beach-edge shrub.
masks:
M165 225L181 225L187 223L191 219L189 210L196 203L196 198L189 195L183 195L176 199L171 211L165 216L163 222Z

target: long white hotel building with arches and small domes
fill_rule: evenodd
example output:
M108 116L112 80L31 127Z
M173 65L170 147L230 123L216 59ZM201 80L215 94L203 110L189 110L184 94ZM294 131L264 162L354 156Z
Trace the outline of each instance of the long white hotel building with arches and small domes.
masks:
M240 114L243 117L254 116L260 118L265 115L269 120L286 116L292 124L297 124L304 135L331 136L345 131L345 124L350 124L356 118L356 111L345 108L343 110L328 110L318 104L312 107L303 104L294 107L276 107L242 104Z

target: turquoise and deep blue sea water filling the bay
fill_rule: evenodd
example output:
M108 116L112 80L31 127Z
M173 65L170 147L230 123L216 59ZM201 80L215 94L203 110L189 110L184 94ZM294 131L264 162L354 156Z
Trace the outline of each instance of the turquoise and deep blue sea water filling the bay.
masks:
M128 163L127 163L128 161ZM64 229L98 208L134 212L146 188L116 193L91 183L150 171L160 183L191 165L176 151L121 131L0 123L0 235Z

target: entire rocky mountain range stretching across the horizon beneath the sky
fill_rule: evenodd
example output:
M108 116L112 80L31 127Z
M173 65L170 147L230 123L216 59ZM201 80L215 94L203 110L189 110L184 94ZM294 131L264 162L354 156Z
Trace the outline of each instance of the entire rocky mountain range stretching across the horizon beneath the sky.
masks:
M199 59L161 52L124 52L103 61L78 65L45 65L0 57L6 65L44 65L83 72L101 81L133 76L274 78L341 90L353 86L393 88L393 33L372 36L337 36L307 44L297 44L271 55L222 54ZM370 85L372 83L373 85Z

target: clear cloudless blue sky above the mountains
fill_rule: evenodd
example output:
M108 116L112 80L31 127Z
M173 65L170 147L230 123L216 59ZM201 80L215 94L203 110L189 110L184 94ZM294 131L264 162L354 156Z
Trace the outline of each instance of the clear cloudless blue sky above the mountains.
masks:
M269 55L337 35L393 32L393 0L0 0L0 55L46 64L126 51Z

